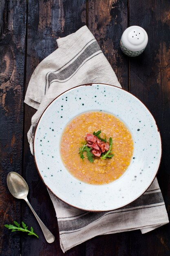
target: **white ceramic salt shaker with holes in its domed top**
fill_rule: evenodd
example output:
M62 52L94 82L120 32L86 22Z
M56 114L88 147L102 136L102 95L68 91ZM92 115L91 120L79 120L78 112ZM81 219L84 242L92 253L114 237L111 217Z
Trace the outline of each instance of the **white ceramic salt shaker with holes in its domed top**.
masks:
M139 26L128 27L121 36L120 47L124 54L135 57L144 52L148 43L146 31Z

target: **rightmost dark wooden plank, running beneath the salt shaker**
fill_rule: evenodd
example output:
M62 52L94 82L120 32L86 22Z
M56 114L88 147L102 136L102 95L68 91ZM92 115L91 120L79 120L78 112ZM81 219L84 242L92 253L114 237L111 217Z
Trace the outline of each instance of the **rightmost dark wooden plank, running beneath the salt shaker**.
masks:
M148 107L161 132L163 155L157 177L169 211L170 2L130 0L129 3L130 26L143 27L149 39L144 53L130 58L130 92ZM170 225L166 225L145 235L132 232L130 255L170 255L169 229Z

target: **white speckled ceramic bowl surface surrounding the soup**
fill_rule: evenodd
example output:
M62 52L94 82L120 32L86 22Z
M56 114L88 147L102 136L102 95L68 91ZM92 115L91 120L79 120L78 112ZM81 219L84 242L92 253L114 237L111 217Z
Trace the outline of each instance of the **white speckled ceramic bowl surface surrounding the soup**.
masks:
M109 112L129 128L132 160L114 182L91 185L66 170L60 139L68 122L87 111ZM129 92L112 85L80 85L58 96L44 111L34 136L34 157L40 177L64 202L86 211L109 211L129 204L154 180L161 160L161 137L148 109Z

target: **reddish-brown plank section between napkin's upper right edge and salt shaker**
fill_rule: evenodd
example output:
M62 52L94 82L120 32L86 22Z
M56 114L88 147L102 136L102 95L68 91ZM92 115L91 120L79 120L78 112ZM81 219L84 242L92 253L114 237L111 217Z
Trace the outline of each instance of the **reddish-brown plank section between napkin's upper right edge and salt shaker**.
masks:
M128 58L121 52L119 44L127 26L126 0L88 1L88 28L97 39L119 83L125 90L128 90Z

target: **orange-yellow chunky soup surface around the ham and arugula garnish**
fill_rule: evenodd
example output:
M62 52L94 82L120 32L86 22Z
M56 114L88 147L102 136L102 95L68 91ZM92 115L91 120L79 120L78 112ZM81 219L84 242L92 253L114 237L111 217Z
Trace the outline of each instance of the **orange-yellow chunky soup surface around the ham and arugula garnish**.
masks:
M86 133L101 130L106 140L112 137L111 158L94 157L89 162L86 153L80 158L79 148L85 142ZM60 152L68 171L82 182L106 184L117 180L128 168L133 153L130 131L117 117L106 112L85 112L71 120L62 134Z

